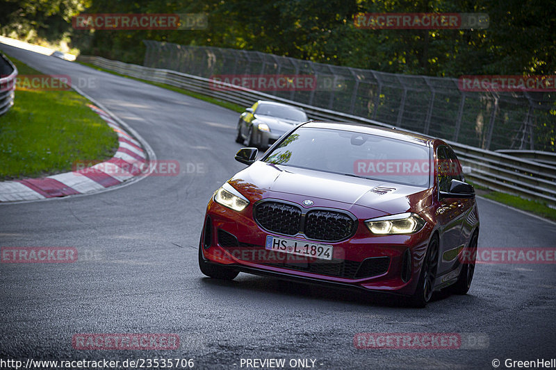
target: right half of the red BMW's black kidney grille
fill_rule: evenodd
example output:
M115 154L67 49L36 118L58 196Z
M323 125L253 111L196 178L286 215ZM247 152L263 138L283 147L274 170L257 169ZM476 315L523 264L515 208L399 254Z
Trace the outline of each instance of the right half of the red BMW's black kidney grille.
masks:
M334 242L352 235L354 221L341 212L314 210L307 212L305 235L311 239Z

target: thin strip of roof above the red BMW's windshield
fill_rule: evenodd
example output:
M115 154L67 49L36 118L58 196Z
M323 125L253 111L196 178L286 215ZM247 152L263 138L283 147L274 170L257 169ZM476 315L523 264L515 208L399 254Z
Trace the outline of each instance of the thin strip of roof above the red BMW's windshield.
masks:
M346 123L346 122L328 122L328 121L309 121L302 126L311 128L332 128L335 130L351 131L354 133L366 133L369 135L377 135L389 137L404 142L415 142L421 145L432 144L437 141L435 137L411 133L409 131L398 130L397 128L384 128L378 126L370 126L368 124ZM441 141L441 140L438 140Z

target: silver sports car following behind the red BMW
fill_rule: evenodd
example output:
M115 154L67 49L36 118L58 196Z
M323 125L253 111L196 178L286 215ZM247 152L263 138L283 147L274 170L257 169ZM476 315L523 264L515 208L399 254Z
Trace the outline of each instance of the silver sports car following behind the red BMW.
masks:
M240 115L236 142L267 149L293 126L306 121L309 119L301 108L259 100Z

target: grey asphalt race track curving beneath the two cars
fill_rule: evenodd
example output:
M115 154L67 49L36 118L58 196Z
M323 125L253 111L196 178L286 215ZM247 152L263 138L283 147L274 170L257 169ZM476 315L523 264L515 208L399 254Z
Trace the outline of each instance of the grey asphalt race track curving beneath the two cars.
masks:
M316 359L317 369L493 369L496 358L505 369L508 358L556 358L556 264L477 265L468 295L437 296L423 310L275 278L205 278L197 245L206 203L243 168L234 160L238 114L75 62L0 49L74 83L92 78L81 90L144 137L158 160L181 166L179 176L101 194L0 205L0 246L79 251L68 264L0 264L0 359L192 358L196 369L241 369L242 358L284 358ZM478 204L480 248L555 245L556 224ZM76 350L78 333L176 333L180 346ZM357 333L475 333L482 342L357 349Z

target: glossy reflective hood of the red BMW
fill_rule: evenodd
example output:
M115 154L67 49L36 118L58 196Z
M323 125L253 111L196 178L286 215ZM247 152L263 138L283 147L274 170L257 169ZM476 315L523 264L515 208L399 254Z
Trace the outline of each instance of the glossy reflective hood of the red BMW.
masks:
M391 215L418 213L432 204L431 189L261 161L238 172L229 183L251 201L258 201L270 191L361 205Z

